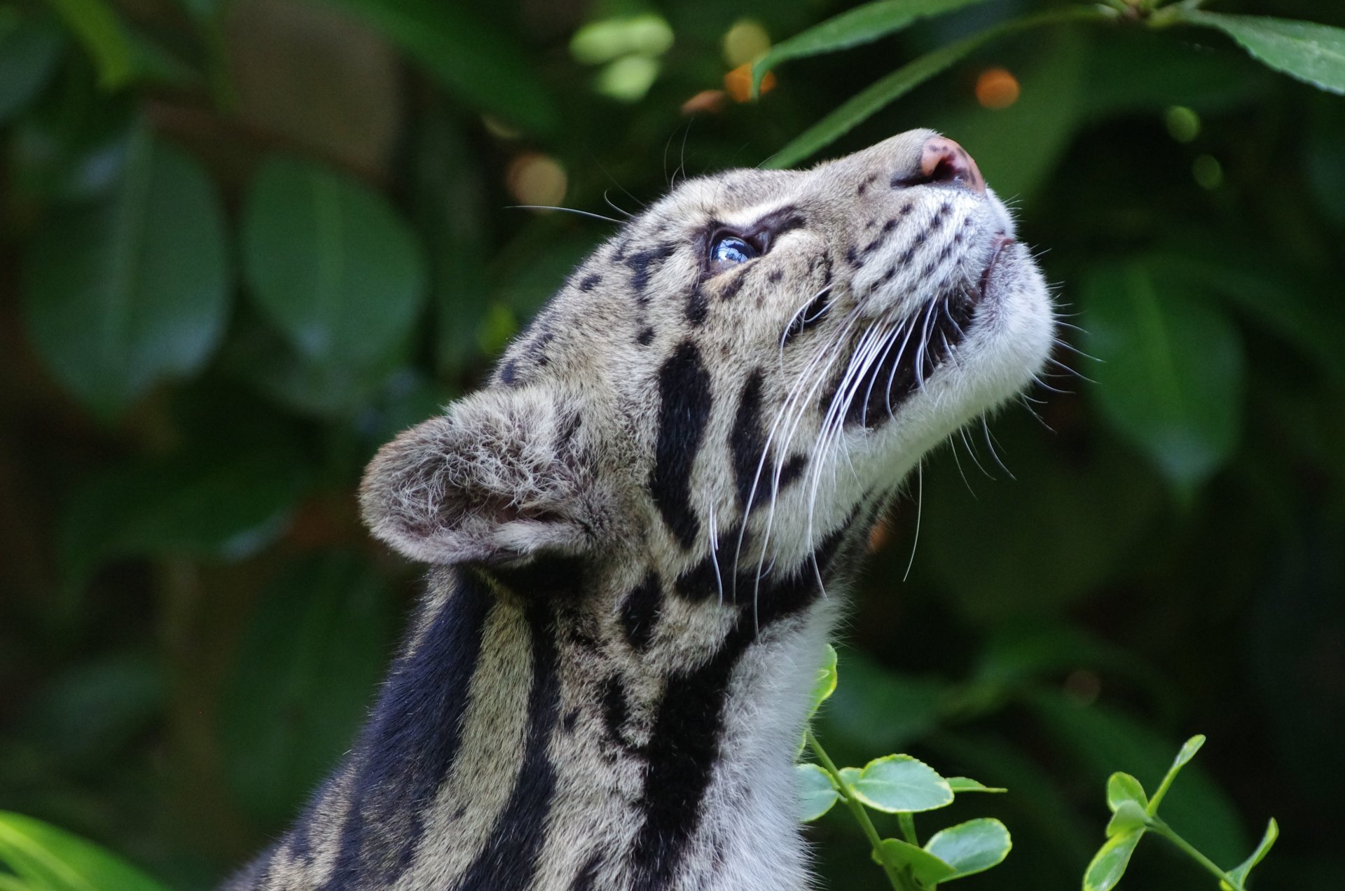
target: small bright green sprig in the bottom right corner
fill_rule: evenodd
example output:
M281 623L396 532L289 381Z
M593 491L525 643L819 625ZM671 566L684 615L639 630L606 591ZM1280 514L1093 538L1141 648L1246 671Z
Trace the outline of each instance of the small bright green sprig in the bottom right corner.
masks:
M1274 818L1266 826L1266 834L1262 836L1260 844L1256 845L1251 856L1225 872L1158 817L1158 805L1167 794L1177 774L1204 744L1204 736L1192 736L1186 740L1186 744L1177 752L1173 766L1167 769L1167 775L1158 783L1153 798L1145 794L1145 787L1130 774L1116 773L1107 779L1107 808L1111 809L1107 841L1099 848L1084 872L1084 891L1111 891L1116 887L1120 878L1126 875L1130 855L1135 852L1135 847L1146 832L1162 836L1177 845L1186 856L1219 878L1219 884L1225 891L1245 891L1247 874L1266 857L1271 845L1275 844L1275 839L1279 837L1279 825Z

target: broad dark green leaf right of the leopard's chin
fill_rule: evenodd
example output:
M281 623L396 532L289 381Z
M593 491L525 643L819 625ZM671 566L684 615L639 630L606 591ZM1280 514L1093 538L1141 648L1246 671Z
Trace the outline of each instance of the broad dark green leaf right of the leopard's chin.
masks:
M1221 312L1161 288L1146 266L1095 268L1083 283L1084 349L1118 432L1189 495L1237 446L1243 351Z

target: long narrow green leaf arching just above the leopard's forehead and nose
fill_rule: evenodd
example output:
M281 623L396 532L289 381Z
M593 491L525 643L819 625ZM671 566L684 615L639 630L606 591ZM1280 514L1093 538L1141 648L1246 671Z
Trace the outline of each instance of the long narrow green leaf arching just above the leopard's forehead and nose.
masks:
M933 75L954 65L972 50L986 43L1024 28L1032 28L1071 19L1091 19L1096 13L1088 8L1067 8L1040 15L1025 16L1005 24L986 28L979 34L972 34L955 43L942 46L928 52L915 62L911 62L892 74L872 83L855 96L842 102L834 112L806 129L791 140L784 148L763 162L763 167L781 168L792 167L800 160L814 155L819 149L830 145L841 136L849 133L861 121L868 120L878 109L905 96Z

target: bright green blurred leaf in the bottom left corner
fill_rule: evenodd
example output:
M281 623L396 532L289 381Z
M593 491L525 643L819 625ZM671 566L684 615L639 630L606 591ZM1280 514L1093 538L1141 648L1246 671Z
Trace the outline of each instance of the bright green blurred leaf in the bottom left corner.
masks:
M0 810L0 863L34 891L167 891L110 851L40 820Z

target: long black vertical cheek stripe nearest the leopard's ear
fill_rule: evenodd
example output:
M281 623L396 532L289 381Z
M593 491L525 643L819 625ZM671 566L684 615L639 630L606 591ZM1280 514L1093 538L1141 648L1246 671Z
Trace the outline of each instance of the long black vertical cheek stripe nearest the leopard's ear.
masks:
M691 511L691 467L710 420L710 373L701 351L683 341L659 369L659 436L654 447L650 494L663 522L690 548L701 532Z

